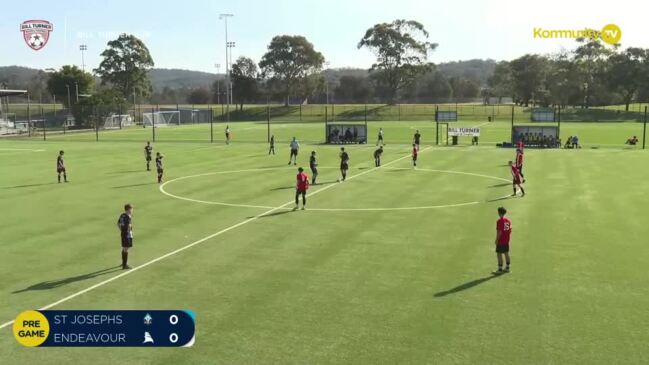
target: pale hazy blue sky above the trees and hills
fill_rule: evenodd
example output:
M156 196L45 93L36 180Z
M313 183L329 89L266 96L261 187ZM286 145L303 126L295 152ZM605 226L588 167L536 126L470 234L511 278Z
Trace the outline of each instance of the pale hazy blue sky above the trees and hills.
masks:
M372 54L358 50L356 44L373 24L397 18L424 24L430 40L439 43L431 56L436 63L509 60L573 47L570 40L534 39L534 27L599 29L615 23L622 29L623 46L649 47L643 6L629 0L12 1L0 11L0 65L42 69L80 65L78 48L84 43L87 69L94 68L106 42L126 32L145 41L156 67L215 72L215 63L225 64L219 13L234 14L229 20L230 40L236 42L233 58L245 55L255 61L274 35L301 34L331 67L369 67ZM19 31L20 23L29 19L54 24L48 45L38 52L25 45Z

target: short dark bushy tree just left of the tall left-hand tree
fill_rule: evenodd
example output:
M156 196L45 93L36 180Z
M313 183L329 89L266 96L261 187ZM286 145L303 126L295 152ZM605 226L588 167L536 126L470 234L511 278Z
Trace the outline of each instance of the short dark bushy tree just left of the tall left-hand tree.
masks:
M75 84L76 83L76 84ZM73 65L66 65L60 70L52 72L47 80L47 90L56 95L57 100L68 101L68 87L70 88L70 105L76 103L77 85L79 94L88 94L95 83L91 74L83 72Z

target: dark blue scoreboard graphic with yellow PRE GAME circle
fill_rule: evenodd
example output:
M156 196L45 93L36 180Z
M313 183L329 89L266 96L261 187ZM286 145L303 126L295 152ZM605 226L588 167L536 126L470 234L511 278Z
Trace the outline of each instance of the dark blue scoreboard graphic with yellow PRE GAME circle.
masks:
M13 324L26 347L191 347L195 330L186 310L28 310Z

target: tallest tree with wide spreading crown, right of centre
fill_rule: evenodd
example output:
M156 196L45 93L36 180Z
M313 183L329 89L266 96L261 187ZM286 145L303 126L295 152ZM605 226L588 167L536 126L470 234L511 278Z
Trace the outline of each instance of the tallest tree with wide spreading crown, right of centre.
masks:
M375 80L390 103L401 89L432 69L427 58L437 44L428 42L428 36L421 23L398 19L374 25L358 42L359 49L366 47L376 55L370 71L376 71Z

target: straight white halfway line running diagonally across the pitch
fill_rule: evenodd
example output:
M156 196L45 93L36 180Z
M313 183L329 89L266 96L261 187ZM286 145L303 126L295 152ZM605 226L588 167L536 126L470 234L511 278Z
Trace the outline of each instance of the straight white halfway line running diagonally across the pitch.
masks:
M424 152L425 150L426 150L426 149L423 149L421 152ZM385 165L387 166L387 165L394 164L394 163L399 162L399 161L401 161L401 160L403 160L403 159L406 159L406 158L408 158L408 157L410 157L410 154L408 154L408 155L406 155L406 156L403 156L403 157L400 157L400 158L398 158L398 159L396 159L396 160L390 161L390 162L386 163ZM363 176L363 175L368 174L368 173L370 173L370 172L372 172L372 171L374 171L374 170L376 170L376 169L377 169L376 167L374 167L374 168L370 168L370 169L368 169L368 170L366 170L366 171L363 171L363 172L361 172L361 173L359 173L359 174L356 174L356 175L353 175L353 176L348 177L347 180L352 180L352 179L355 179L355 178L357 178L357 177ZM319 190L317 190L317 191L311 193L311 195L319 194L319 193L321 193L321 192L323 192L323 191L326 191L326 190L331 189L331 188L334 187L334 186L338 186L338 184L327 185L327 186L325 186L325 187L323 187L323 188L321 188L321 189L319 189ZM187 250L187 249L189 249L189 248L192 248L192 247L194 247L194 246L196 246L196 245L198 245L198 244L200 244L200 243L203 243L203 242L205 242L205 241L207 241L207 240L210 240L210 239L212 239L212 238L214 238L214 237L220 236L220 235L222 235L223 233L229 232L229 231L231 231L231 230L233 230L233 229L239 228L239 227L241 227L241 226L243 226L243 225L245 225L245 224L248 224L248 223L250 223L250 222L254 222L254 221L256 221L257 219L259 219L259 218L261 218L261 217L263 217L263 216L266 216L266 215L268 215L268 214L271 214L271 213L273 213L273 212L275 212L275 211L277 211L277 210L280 210L280 209L286 207L287 205L290 205L290 204L293 204L293 203L294 203L294 200L291 200L291 201L286 202L286 203L284 203L284 204L282 204L282 205L280 205L280 206L278 206L278 207L274 207L274 208L269 209L269 210L267 210L267 211L265 211L265 212L263 212L263 213L261 213L261 214L258 214L258 215L256 215L256 216L254 216L254 217L251 217L251 218L248 218L248 219L246 219L246 220L244 220L244 221L241 221L241 222L239 222L239 223L237 223L237 224L235 224L235 225L232 225L232 226L230 226L230 227L227 227L227 228L225 228L225 229L222 229L222 230L220 230L220 231L218 231L218 232L212 233L211 235L206 236L206 237L203 237L203 238L199 239L198 241L194 241L194 242L192 242L192 243L190 243L190 244L188 244L188 245L185 245L185 246L183 246L183 247L181 247L181 248L178 248L178 249L176 249L176 250L174 250L174 251L168 252L168 253L166 253L166 254L164 254L164 255L162 255L162 256L159 256L159 257L157 257L157 258L155 258L155 259L153 259L153 260L150 260L150 261L148 261L148 262L145 262L144 264L142 264L142 265L140 265L140 266L136 266L136 267L134 267L134 268L132 268L132 269L130 269L130 270L124 271L123 273L121 273L121 274L119 274L119 275L115 275L115 276L113 276L112 278L109 278L109 279L106 279L106 280L104 280L104 281L101 281L101 282L99 282L99 283L97 283L97 284L95 284L95 285L92 285L92 286L90 286L90 287L88 287L88 288L86 288L86 289L80 290L80 291L78 291L78 292L76 292L76 293L74 293L74 294L68 295L67 297L65 297L65 298L63 298L63 299L59 299L59 300L57 300L57 301L54 302L54 303L50 303L50 304L48 304L48 305L46 305L46 306L40 308L39 310L47 310L47 309L50 309L50 308L52 308L52 307L55 307L55 306L57 306L57 305L59 305L59 304L65 303L65 302L69 301L70 299L74 299L74 298L76 298L76 297L78 297L78 296L80 296L80 295L82 295L82 294L85 294L85 293L91 291L91 290L97 289L97 288L99 288L99 287L101 287L101 286L104 286L104 285L106 285L106 284L108 284L108 283L110 283L110 282L112 282L112 281L115 281L115 280L117 280L117 279L123 278L123 277L126 276L126 275L130 275L130 274L132 274L132 273L134 273L134 272L136 272L136 271L138 271L138 270L140 270L140 269L143 269L143 268L145 268L145 267L147 267L147 266L149 266L149 265L153 265L153 264L155 264L155 263L158 262L158 261L164 260L164 259L166 259L167 257L170 257L170 256L173 256L173 255L175 255L175 254L177 254L177 253L183 252L183 251L185 251L185 250ZM3 324L0 325L0 329L5 328L5 327L7 327L7 326L10 326L10 325L13 324L13 323L14 323L13 320L8 321L8 322L5 322L5 323L3 323Z

